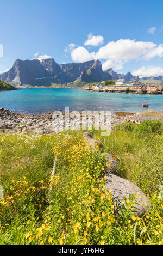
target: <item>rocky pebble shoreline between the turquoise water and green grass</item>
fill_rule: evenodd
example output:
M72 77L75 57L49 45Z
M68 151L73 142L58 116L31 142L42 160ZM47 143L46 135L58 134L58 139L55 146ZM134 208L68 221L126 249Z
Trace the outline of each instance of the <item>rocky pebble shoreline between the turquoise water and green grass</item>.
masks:
M152 111L148 111L149 114ZM163 120L163 111L160 111L160 117L152 117L149 115L142 115L141 112L129 113L129 112L115 112L111 114L111 130L118 124L133 122L140 124L141 121L152 119L152 120ZM64 112L62 112L64 115ZM97 112L98 114L98 112ZM70 130L73 129L74 125L82 127L82 125L87 125L89 123L89 115L86 116L85 123L82 123L82 112L80 112L80 117L70 117ZM104 124L106 121L106 115ZM0 108L0 134L20 134L20 133L32 133L35 135L52 135L60 133L62 129L62 116L53 117L53 112L48 112L47 114L40 115L27 115L19 114L9 109ZM93 125L95 125L95 117L92 118ZM77 127L77 126L76 126Z

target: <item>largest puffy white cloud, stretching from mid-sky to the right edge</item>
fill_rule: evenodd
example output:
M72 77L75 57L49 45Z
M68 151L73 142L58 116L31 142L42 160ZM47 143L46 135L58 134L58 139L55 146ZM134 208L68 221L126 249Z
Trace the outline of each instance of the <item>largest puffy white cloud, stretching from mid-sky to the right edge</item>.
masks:
M71 58L74 62L85 62L92 59L105 60L103 69L122 69L123 64L130 60L149 60L154 57L163 56L163 45L156 45L153 42L135 41L120 39L110 41L97 52L89 52L85 47L79 46L71 51Z

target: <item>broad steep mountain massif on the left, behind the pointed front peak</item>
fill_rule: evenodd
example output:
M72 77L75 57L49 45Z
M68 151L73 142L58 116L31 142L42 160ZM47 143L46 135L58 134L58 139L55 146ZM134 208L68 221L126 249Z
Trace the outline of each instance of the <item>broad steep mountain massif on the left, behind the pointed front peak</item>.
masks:
M76 81L84 69L89 69L94 60L84 63L70 63L58 65L55 60L21 60L17 59L12 68L1 74L0 78L6 82L21 84L45 85L48 81L53 83L68 83Z

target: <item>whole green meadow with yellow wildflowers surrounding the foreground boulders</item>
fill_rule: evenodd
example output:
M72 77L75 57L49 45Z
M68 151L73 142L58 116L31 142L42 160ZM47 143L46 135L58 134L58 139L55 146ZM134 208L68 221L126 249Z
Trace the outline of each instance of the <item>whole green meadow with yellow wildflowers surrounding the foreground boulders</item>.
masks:
M163 135L160 121L117 126L108 137L93 131L104 151L120 159L118 175L150 198L141 218L130 204L114 212L101 178L105 159L87 149L82 132L57 136L0 136L0 244L147 245L162 244ZM60 139L60 143L58 145ZM49 190L54 157L58 161Z

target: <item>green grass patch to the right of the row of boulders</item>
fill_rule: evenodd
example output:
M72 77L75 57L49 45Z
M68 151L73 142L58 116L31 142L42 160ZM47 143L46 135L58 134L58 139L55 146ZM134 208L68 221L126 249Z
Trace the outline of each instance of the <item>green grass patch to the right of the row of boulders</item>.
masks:
M134 182L151 195L163 181L163 136L161 121L143 121L140 125L117 126L108 137L100 137L104 151L120 159L119 175Z

